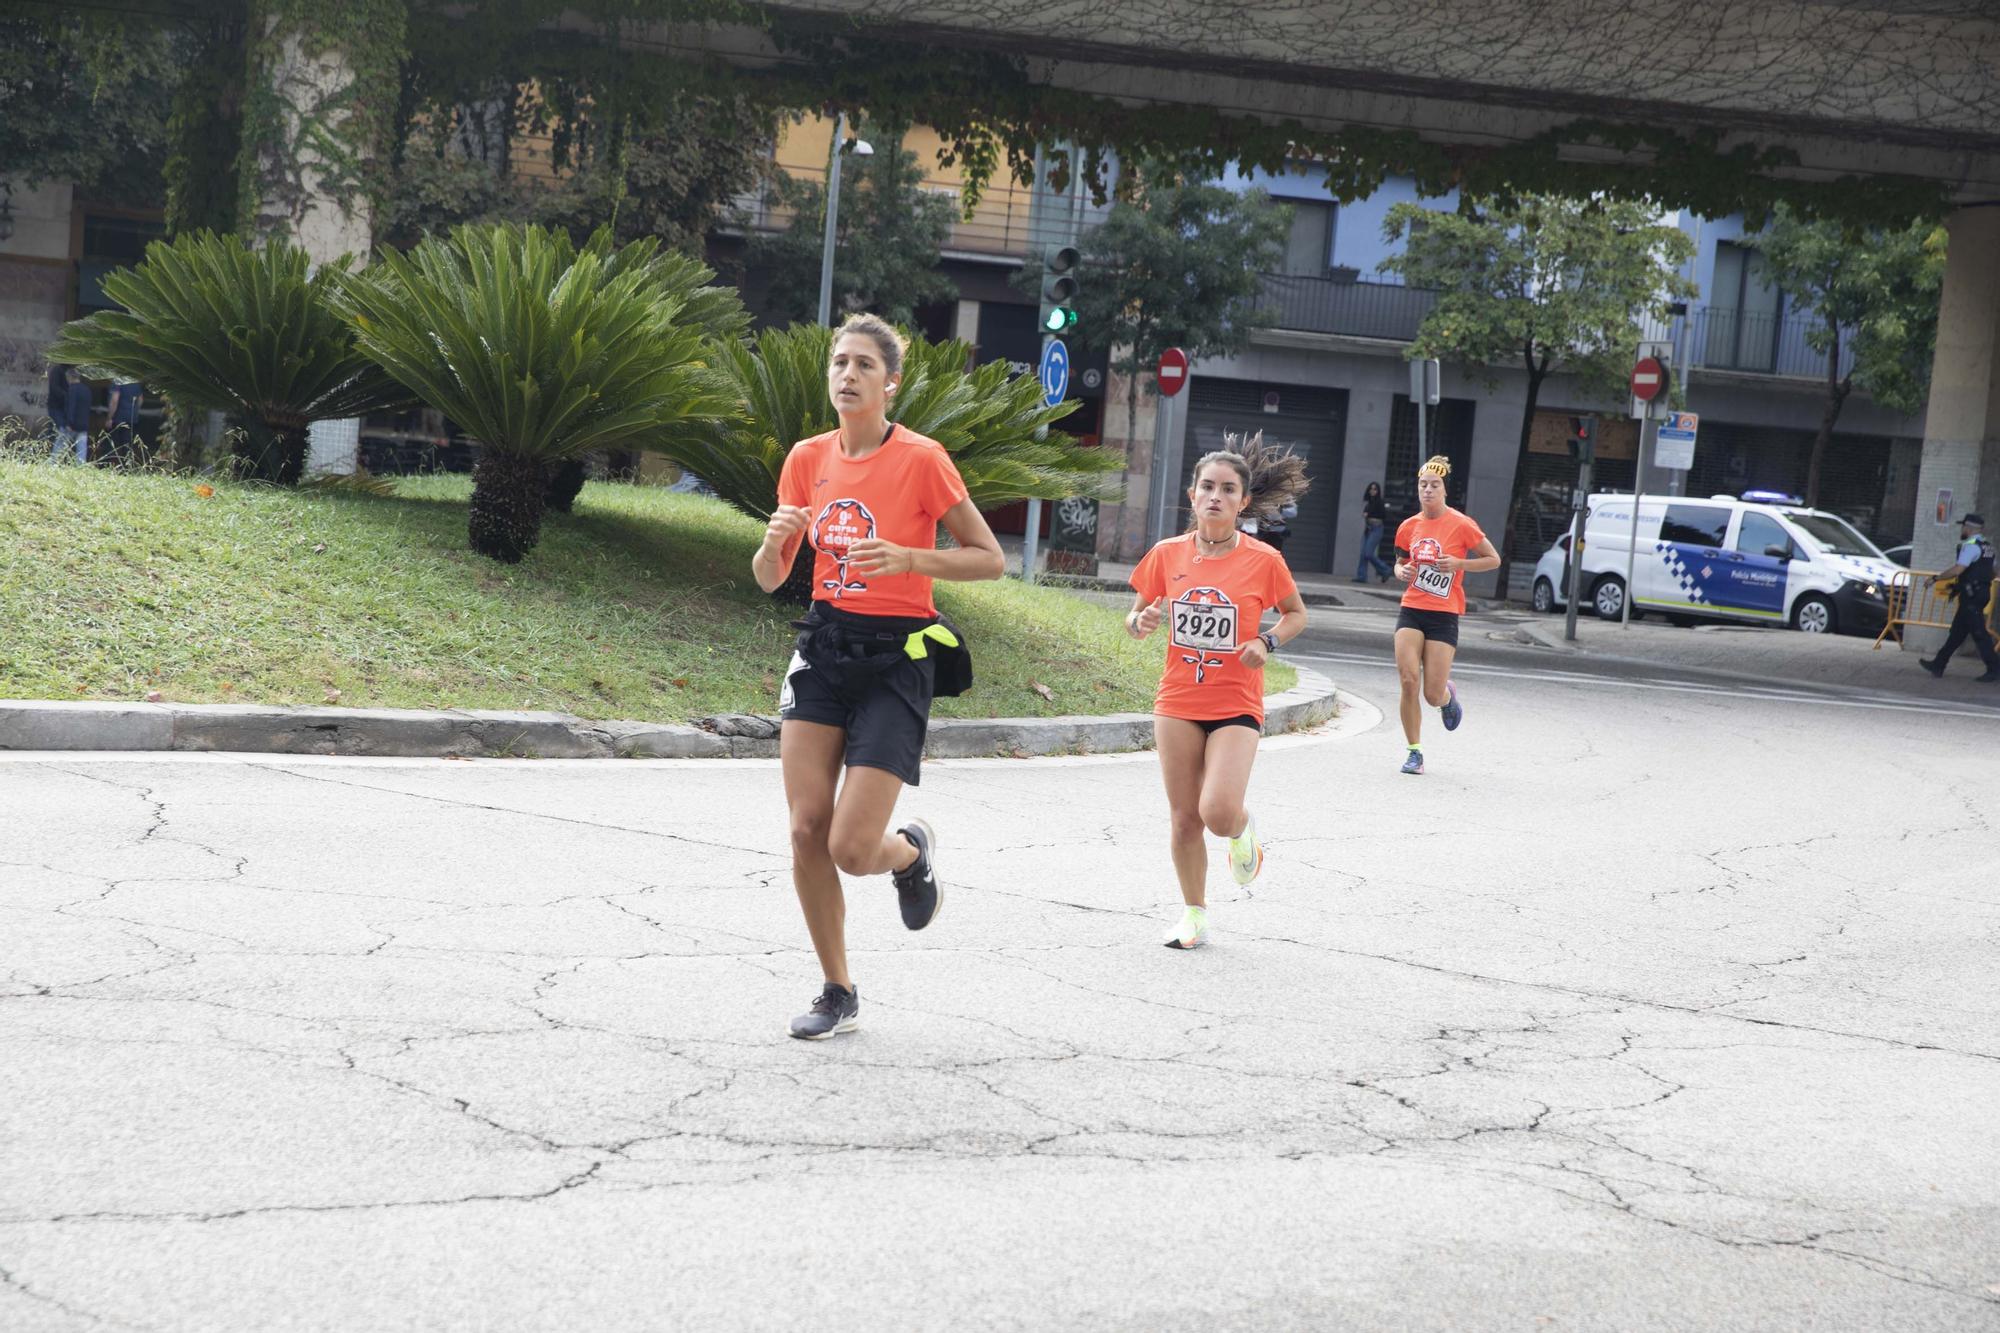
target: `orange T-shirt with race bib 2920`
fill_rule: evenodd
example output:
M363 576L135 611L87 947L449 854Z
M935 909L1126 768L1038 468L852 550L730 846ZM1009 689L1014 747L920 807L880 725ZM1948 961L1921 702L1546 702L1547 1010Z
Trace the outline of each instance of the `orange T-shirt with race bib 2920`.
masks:
M1132 590L1166 598L1166 671L1152 711L1190 723L1248 713L1264 721L1264 669L1244 666L1238 644L1256 638L1264 612L1298 592L1284 556L1244 536L1226 556L1194 554L1194 532L1170 536L1132 570Z

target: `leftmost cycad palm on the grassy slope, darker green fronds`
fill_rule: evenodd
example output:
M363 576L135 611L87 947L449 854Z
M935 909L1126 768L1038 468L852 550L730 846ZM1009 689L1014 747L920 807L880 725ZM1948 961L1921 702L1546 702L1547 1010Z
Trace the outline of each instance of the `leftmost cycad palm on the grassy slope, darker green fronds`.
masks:
M154 242L136 266L104 278L124 310L70 322L48 354L138 380L182 412L234 414L246 428L246 470L294 484L312 422L410 400L360 354L328 302L346 260L308 268L286 240L262 250L214 232Z

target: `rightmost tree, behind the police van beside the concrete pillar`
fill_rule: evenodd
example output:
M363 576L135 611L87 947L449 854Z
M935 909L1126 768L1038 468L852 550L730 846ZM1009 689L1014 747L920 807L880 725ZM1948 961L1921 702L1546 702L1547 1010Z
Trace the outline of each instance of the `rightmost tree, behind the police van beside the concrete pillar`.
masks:
M1944 228L1912 222L1860 232L1840 222L1808 222L1778 206L1752 236L1772 286L1812 312L1806 344L1826 356L1826 404L1806 466L1806 504L1820 502L1820 468L1848 394L1860 388L1894 412L1916 412L1930 392L1944 290ZM1840 372L1842 340L1854 360Z

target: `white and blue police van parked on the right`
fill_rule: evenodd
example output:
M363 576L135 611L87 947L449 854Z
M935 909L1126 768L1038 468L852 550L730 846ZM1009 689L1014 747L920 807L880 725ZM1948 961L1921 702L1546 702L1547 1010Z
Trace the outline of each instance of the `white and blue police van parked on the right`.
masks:
M1874 634L1888 614L1896 574L1874 542L1840 514L1804 508L1796 496L1746 490L1706 500L1594 494L1584 520L1582 602L1616 620L1632 568L1632 618L1790 624L1812 634ZM1570 590L1564 536L1534 570L1538 610L1562 606Z

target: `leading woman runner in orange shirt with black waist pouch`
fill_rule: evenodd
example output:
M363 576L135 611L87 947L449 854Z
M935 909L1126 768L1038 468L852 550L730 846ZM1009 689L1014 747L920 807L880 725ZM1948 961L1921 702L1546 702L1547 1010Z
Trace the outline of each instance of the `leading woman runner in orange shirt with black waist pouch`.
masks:
M890 875L912 931L938 915L936 833L922 819L888 833L902 789L918 785L932 697L972 683L966 646L930 588L1006 568L952 456L888 420L902 354L902 336L872 314L840 326L826 366L840 426L786 454L778 508L750 560L770 592L802 542L814 550L812 608L796 622L778 695L792 885L824 973L812 1009L792 1019L792 1037L808 1041L860 1025L842 873ZM938 522L954 550L936 548Z

